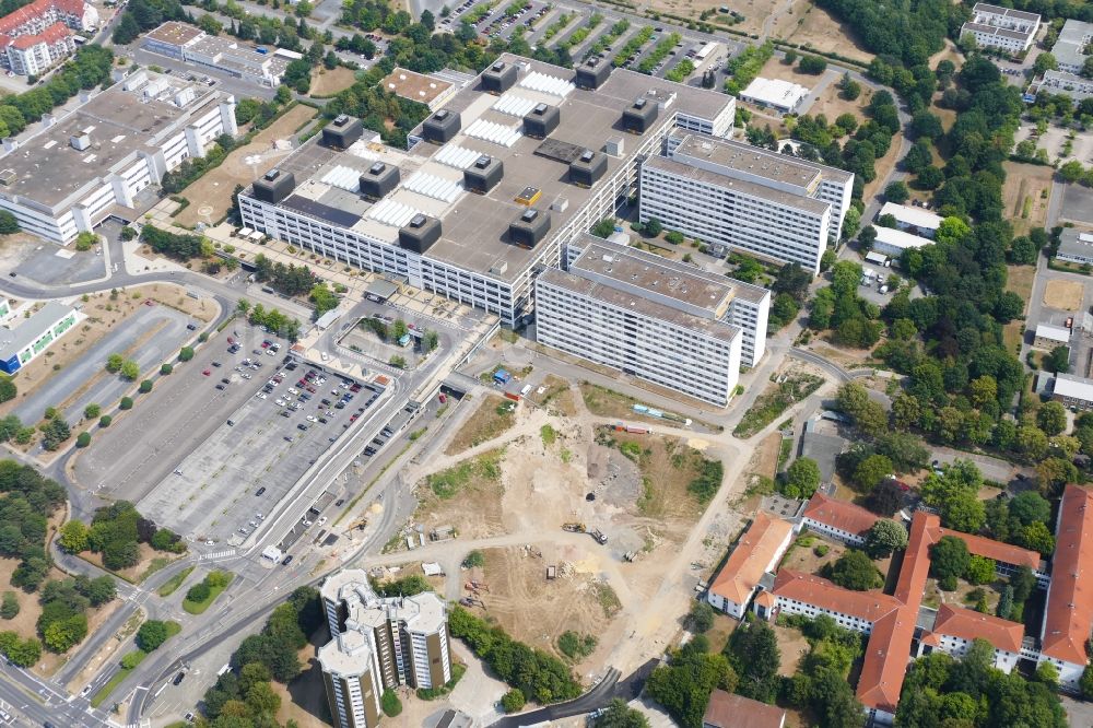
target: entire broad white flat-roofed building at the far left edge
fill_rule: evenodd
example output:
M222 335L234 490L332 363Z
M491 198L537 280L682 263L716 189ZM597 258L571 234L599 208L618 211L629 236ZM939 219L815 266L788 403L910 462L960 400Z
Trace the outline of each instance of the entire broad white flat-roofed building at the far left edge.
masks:
M67 245L109 216L132 222L158 200L149 188L164 174L237 132L230 94L146 70L115 81L3 140L0 209L24 231Z

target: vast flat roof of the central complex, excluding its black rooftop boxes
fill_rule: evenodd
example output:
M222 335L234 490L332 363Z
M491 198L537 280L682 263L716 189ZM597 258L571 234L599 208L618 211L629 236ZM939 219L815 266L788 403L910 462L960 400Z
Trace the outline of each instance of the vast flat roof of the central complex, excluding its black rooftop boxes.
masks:
M501 59L520 69L520 80L500 97L481 91L478 83L456 93L444 107L460 115L460 131L451 141L444 145L423 141L407 152L384 146L366 132L365 140L336 152L319 145L316 137L278 164L282 172L295 175L297 183L293 196L281 206L391 245L397 245L399 230L392 221L409 220L407 211L421 212L442 225L440 239L425 253L425 258L512 281L540 251L538 246L533 250L518 247L507 236L509 223L527 210L516 201L526 188L540 190L539 201L532 207L549 212L551 231L545 240L550 240L584 208L599 185L636 155L648 134L670 124L672 111L680 108L713 120L732 103L725 94L623 69L612 72L598 90L583 91L572 84L572 70L509 54ZM626 133L621 124L623 111L638 97L650 94L668 98L671 106L642 137ZM545 142L522 134L522 116L540 103L561 111L560 126ZM420 128L411 132L420 134ZM625 140L623 154L607 155L602 150L608 140L620 137ZM591 189L568 181L566 162L537 154L567 145L578 153L588 149L606 155L608 169ZM462 172L482 154L504 164L504 177L490 192L475 195L462 189ZM398 166L402 181L384 200L371 203L354 185L356 177L376 161ZM344 180L341 188L333 184L339 175ZM560 203L557 209L549 210L555 202ZM403 214L397 214L399 210Z

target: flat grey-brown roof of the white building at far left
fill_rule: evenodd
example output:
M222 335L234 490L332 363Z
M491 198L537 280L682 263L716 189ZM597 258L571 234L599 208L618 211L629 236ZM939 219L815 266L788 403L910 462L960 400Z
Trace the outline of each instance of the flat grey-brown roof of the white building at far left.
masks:
M160 151L166 132L174 132L195 114L227 96L202 84L149 71L148 84L126 91L117 83L59 118L52 126L19 139L19 148L0 156L0 196L52 209L75 202L134 152ZM136 74L134 74L136 75ZM132 77L130 77L132 78ZM150 87L160 93L145 99ZM186 87L193 98L179 107L174 97ZM70 145L86 134L83 151Z

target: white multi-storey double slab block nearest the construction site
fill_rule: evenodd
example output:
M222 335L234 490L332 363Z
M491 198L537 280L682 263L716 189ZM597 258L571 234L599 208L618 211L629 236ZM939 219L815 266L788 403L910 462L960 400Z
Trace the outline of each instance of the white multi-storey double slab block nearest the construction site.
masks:
M696 399L725 406L749 356L762 355L771 293L660 256L591 243L536 283L536 339ZM738 310L733 317L731 309ZM745 315L750 313L750 318ZM749 366L751 363L748 364Z

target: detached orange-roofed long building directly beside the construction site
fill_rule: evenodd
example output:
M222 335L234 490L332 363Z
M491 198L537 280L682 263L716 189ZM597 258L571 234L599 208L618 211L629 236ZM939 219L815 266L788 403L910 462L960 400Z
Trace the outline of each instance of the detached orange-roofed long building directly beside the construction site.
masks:
M777 565L792 540L792 524L765 510L756 513L714 577L706 600L729 617L743 619L763 574Z

